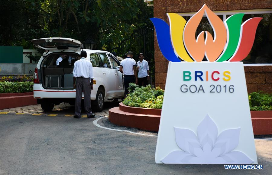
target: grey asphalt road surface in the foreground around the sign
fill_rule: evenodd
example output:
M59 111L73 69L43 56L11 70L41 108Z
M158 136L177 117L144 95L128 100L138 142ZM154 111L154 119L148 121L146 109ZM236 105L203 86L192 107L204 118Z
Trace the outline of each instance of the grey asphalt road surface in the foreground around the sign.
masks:
M271 174L272 141L255 140L264 170L155 164L157 137L106 130L96 118L0 115L1 174Z

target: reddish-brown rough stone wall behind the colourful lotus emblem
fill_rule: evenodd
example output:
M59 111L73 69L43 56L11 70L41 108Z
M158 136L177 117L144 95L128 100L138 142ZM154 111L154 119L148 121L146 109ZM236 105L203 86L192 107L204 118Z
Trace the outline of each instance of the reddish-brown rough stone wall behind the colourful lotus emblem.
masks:
M166 13L197 12L203 4L208 5L212 11L250 10L272 8L272 0L155 0L154 17L161 18L169 24ZM156 36L156 33L155 33ZM168 61L160 52L157 38L154 37L155 58L155 86L165 88ZM245 67L248 92L271 90L272 66Z

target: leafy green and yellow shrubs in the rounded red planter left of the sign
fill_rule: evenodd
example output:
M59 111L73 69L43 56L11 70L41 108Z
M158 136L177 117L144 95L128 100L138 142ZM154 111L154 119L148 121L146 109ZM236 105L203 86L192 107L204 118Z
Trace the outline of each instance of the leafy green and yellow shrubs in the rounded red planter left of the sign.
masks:
M164 91L160 87L151 88L151 85L139 87L134 83L129 84L129 94L123 104L132 107L144 107L161 109L164 99Z

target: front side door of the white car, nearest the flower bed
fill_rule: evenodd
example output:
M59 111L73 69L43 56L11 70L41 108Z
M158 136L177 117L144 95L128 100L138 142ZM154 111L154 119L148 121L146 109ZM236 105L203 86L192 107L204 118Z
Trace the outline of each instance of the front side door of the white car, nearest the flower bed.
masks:
M112 69L115 74L115 94L116 96L124 96L123 75L119 71L120 62L112 54L107 54L112 64Z

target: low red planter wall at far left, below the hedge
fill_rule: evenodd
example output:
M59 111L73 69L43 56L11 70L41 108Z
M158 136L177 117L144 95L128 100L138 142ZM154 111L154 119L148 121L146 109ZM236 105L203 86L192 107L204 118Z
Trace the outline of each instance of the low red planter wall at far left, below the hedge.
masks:
M0 94L0 109L37 104L33 92Z

